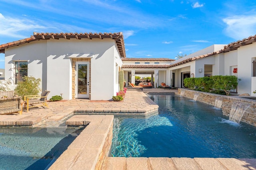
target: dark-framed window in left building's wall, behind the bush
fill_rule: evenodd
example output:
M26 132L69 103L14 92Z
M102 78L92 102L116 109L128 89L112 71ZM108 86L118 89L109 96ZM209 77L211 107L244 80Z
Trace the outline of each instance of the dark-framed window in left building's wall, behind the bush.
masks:
M23 81L24 76L28 76L28 62L15 62L15 84Z

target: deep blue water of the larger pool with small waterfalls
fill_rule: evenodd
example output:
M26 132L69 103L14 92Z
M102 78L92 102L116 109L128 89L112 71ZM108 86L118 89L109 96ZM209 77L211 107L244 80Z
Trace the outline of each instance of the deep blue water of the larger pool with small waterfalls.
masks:
M112 156L256 158L256 127L174 94L150 98L157 115L115 116Z

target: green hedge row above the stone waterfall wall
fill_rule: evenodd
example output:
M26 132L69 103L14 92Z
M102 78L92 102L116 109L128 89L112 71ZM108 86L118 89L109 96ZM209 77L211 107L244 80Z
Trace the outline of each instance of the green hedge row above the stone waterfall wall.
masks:
M229 95L230 90L235 89L240 81L236 76L211 76L198 78L185 78L184 86L192 90L210 92L210 90L224 90Z

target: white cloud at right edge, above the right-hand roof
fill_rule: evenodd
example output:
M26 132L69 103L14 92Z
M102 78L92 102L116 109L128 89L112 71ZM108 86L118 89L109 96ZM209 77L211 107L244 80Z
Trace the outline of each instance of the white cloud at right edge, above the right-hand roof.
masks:
M226 35L233 39L244 39L256 34L256 14L227 17L222 21L226 23Z

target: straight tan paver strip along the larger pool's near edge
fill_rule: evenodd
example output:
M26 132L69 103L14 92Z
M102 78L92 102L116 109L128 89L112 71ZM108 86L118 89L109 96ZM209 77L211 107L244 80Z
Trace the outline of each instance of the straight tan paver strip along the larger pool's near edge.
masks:
M103 170L256 170L256 159L107 157Z

